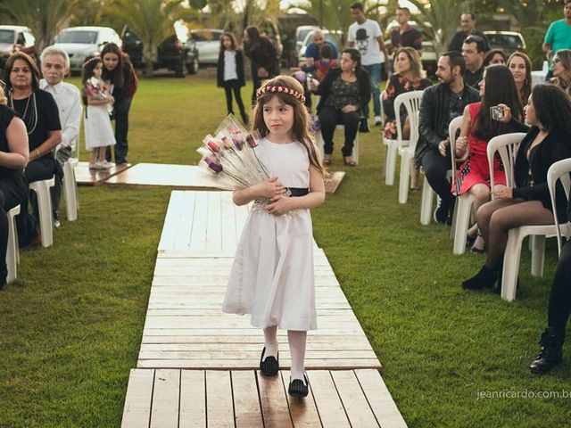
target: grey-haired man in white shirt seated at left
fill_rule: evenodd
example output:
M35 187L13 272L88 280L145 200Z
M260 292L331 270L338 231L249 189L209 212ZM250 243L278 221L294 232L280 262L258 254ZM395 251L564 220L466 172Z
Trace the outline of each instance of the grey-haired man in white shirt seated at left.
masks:
M69 159L71 152L78 149L82 108L79 89L63 82L63 77L70 70L68 54L62 48L47 46L40 56L40 61L44 78L40 80L39 87L54 95L62 122L62 142L55 148L55 185L51 189L54 226L59 227L58 208L62 196L62 166Z

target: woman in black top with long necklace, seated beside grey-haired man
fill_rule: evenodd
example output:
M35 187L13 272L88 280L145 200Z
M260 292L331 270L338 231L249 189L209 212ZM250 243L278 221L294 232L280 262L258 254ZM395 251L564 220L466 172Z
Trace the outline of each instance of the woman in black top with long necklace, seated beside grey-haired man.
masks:
M54 97L39 88L36 62L23 52L15 52L4 66L8 106L26 125L29 140L29 162L24 175L27 184L54 177L53 150L62 141L60 115ZM31 193L35 197L35 193ZM21 203L16 218L20 246L39 242L37 204L32 202L33 216L28 212L28 198Z

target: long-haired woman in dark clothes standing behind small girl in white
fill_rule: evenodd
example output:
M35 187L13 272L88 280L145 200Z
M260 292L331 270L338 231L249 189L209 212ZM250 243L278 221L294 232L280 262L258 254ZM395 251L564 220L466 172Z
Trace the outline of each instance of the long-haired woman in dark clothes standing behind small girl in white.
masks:
M103 80L112 85L115 99L113 116L115 119L115 163L127 164L128 152L128 112L133 95L137 92L137 74L128 61L128 55L120 47L108 43L101 50L103 59ZM107 161L111 161L111 151L107 152Z

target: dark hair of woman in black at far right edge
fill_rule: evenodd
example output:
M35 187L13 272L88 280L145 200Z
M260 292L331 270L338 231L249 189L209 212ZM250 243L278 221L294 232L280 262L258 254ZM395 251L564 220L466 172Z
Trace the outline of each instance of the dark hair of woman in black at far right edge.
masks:
M535 85L532 90L535 115L545 130L567 137L571 145L571 98L554 85Z

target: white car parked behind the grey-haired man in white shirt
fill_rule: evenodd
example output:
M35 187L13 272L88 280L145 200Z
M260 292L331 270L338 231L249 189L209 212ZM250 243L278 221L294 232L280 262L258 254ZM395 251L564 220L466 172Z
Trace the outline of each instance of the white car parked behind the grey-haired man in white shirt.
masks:
M70 27L55 37L54 44L70 55L71 72L80 72L87 57L106 43L121 46L121 37L109 27Z

